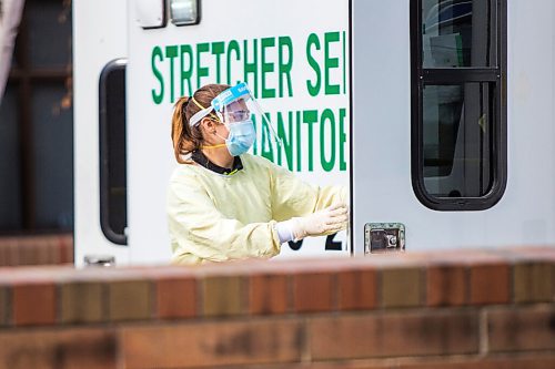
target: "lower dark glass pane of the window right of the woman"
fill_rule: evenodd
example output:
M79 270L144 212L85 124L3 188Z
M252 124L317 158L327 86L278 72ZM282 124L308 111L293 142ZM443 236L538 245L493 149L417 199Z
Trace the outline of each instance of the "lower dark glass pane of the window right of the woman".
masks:
M480 197L492 187L494 95L490 83L424 86L423 174L428 194Z

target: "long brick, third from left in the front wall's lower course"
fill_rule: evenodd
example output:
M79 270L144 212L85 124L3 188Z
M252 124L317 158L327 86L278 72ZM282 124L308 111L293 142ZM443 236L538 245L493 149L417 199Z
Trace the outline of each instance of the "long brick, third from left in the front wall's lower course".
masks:
M311 355L330 360L477 352L477 312L467 310L313 318Z

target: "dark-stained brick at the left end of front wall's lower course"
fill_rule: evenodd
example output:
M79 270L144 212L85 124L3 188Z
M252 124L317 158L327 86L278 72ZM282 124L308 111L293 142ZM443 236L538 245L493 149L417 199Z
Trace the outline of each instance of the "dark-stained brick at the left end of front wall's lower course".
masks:
M0 368L117 368L117 337L111 329L24 329L0 334Z

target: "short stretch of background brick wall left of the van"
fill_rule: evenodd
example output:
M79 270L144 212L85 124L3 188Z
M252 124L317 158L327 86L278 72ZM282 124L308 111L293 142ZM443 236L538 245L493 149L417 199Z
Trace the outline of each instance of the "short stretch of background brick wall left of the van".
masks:
M71 234L0 237L0 266L73 263Z

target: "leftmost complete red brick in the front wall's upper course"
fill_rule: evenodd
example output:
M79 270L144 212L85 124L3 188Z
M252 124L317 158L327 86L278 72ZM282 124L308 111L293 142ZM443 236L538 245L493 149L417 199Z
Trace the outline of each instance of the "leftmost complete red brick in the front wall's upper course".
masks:
M17 326L54 324L56 286L39 283L14 285L12 317Z

